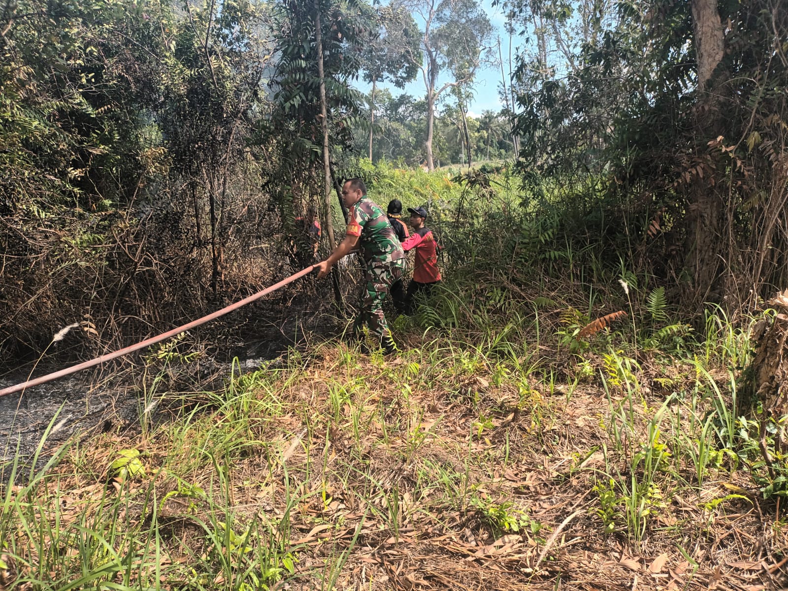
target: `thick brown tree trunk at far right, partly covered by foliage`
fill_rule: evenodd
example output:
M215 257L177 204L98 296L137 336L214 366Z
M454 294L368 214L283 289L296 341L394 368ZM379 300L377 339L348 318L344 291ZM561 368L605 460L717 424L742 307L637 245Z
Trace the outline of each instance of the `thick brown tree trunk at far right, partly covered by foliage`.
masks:
M712 73L723 58L723 25L716 0L692 0L693 34L697 55L698 100L695 136L697 150L704 151L708 139L722 135L724 121L719 110L717 89ZM725 203L708 175L693 177L689 188L692 200L689 214L688 267L694 280L695 295L701 301L720 299L719 268Z

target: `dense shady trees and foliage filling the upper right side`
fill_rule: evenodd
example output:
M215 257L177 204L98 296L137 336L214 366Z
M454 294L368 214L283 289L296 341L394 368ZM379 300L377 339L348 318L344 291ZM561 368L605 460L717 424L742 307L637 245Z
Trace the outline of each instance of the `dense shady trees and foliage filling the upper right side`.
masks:
M617 254L696 306L751 305L782 288L788 13L779 3L504 6L537 38L514 80L526 180L560 180L560 203L591 232L604 231L593 210L617 217Z

